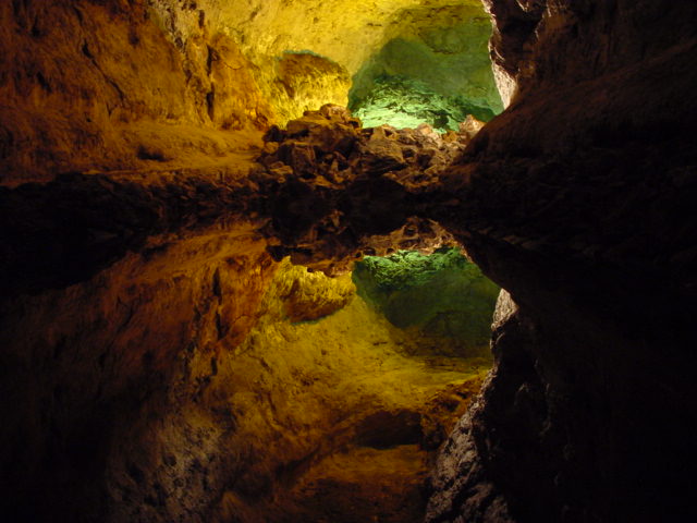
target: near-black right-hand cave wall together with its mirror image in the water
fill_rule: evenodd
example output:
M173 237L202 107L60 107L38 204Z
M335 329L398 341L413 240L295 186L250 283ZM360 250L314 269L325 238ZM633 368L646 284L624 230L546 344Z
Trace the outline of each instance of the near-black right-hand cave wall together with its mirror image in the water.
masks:
M516 306L427 521L694 519L697 10L487 4L515 89L441 223Z

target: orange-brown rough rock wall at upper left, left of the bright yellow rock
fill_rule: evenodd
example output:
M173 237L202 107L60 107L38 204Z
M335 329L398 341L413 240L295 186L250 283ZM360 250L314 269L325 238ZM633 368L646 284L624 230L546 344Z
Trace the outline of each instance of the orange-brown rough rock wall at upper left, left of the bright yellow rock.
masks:
M178 47L144 2L3 2L0 27L0 183L210 165L269 117L234 41Z

